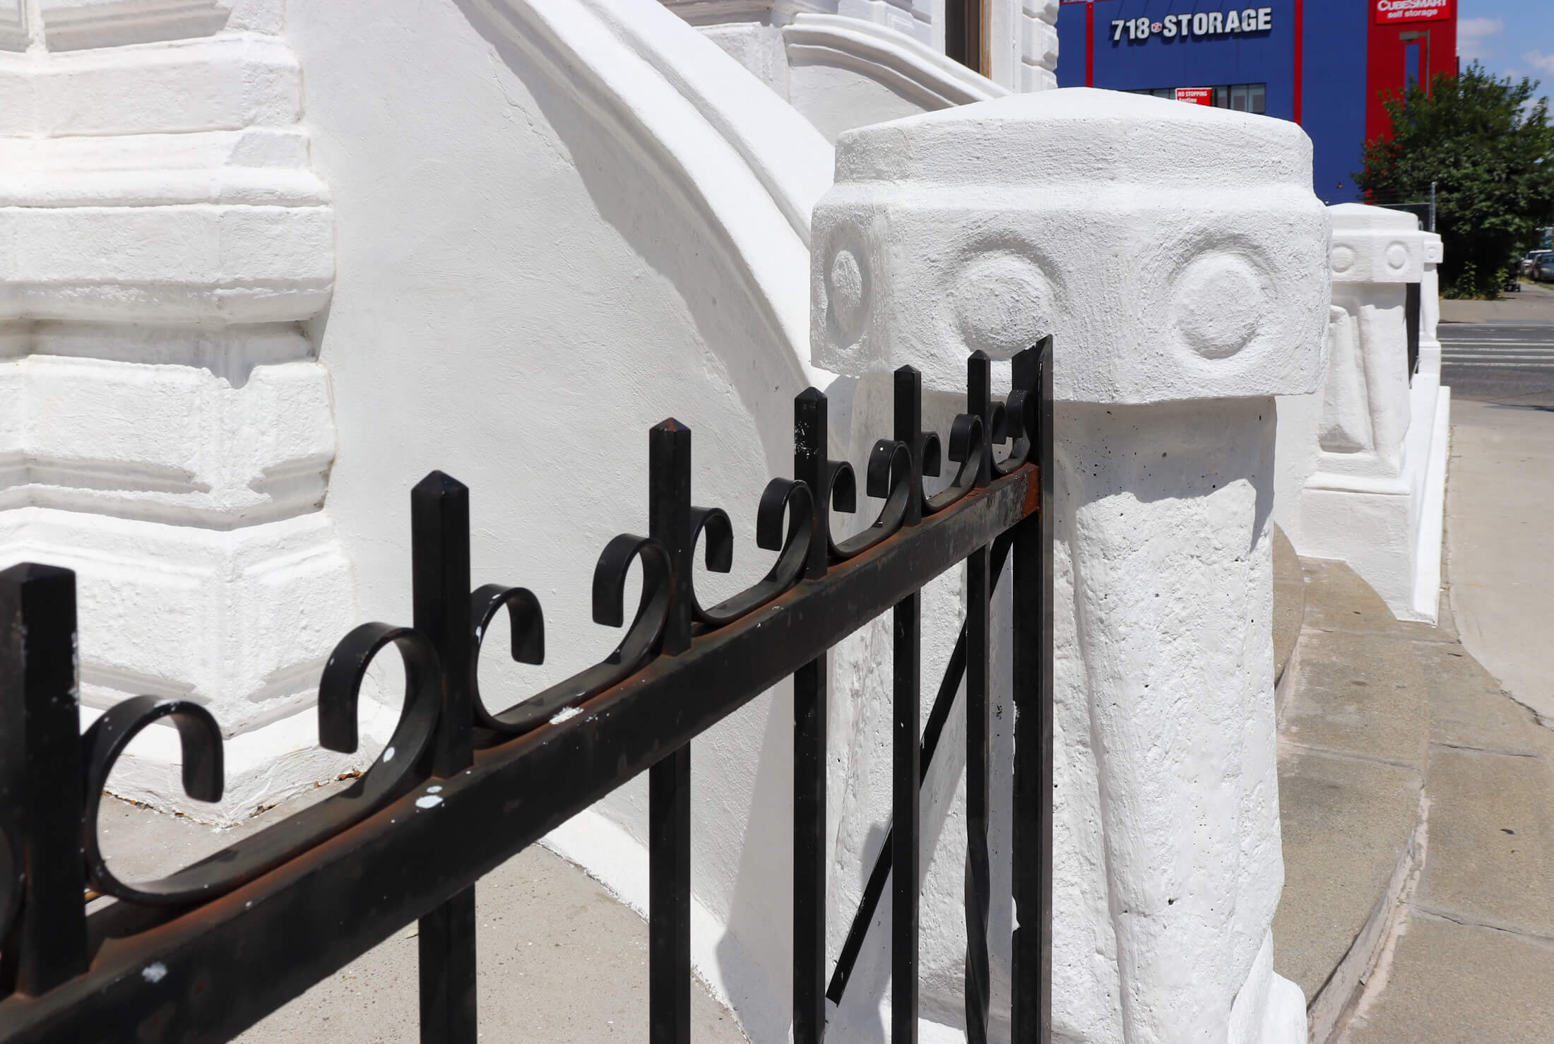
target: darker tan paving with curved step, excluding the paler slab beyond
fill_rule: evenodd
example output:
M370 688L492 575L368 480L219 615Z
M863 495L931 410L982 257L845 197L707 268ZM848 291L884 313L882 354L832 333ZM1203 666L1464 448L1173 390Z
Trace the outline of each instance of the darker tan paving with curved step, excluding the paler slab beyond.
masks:
M1313 1044L1554 1039L1554 730L1343 562L1301 559L1274 968Z

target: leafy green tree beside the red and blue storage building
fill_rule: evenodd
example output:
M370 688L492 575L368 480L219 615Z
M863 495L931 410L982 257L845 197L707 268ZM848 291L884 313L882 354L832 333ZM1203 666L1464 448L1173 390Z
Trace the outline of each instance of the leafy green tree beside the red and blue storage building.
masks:
M1497 79L1473 62L1385 99L1392 137L1366 143L1355 182L1377 202L1430 199L1445 239L1447 297L1497 297L1517 255L1554 213L1554 127L1538 82Z

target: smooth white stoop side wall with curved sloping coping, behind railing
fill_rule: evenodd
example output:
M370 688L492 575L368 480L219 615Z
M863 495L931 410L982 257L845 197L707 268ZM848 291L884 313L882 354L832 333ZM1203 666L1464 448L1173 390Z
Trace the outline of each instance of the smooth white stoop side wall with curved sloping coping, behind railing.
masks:
M410 618L409 489L441 468L471 489L474 583L544 604L544 665L507 660L505 618L486 637L490 705L603 659L620 634L589 621L594 562L646 525L646 430L668 415L693 432L696 502L735 525L735 572L698 587L758 579L755 506L793 468L791 398L824 381L805 245L824 138L651 3L297 0L287 39L336 199L336 294L309 329L361 618ZM791 729L779 687L693 747L695 959L757 1041L788 1025ZM643 851L645 781L594 811L609 837L580 858L645 884L609 854Z

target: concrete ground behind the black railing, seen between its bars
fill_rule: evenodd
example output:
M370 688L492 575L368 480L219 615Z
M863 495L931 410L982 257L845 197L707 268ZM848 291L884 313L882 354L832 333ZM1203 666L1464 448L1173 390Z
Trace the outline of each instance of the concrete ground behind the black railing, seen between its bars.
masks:
M148 879L297 811L294 802L232 830L106 800L99 836L115 872ZM476 886L480 1039L648 1039L648 926L597 881L531 845ZM235 1038L238 1044L416 1044L415 926ZM692 983L692 1038L743 1044L738 1022Z

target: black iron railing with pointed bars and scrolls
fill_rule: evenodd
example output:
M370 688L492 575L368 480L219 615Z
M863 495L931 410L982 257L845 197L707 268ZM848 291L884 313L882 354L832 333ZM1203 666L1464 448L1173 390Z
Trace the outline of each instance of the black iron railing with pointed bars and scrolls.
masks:
M1013 362L968 362L968 405L949 432L959 465L937 474L917 371L895 374L895 432L866 475L884 500L873 525L836 539L856 480L827 457L825 396L794 402L793 480L772 480L757 544L766 576L702 606L692 556L727 570L732 527L690 502L690 430L650 433L648 536L617 536L594 573L594 618L622 626L634 562L642 595L598 665L490 712L476 682L480 639L511 621L514 660L544 659L539 601L522 587L471 593L468 489L441 472L412 503L413 626L367 623L334 649L319 685L319 741L350 752L357 691L393 646L406 698L384 753L350 789L151 882L104 861L96 809L115 760L152 722L177 727L190 797L219 800L221 730L191 701L124 701L82 735L75 575L23 564L0 573L0 1042L225 1041L420 918L421 1041L476 1041L474 887L482 875L609 791L650 775L650 1022L656 1044L690 1039L692 740L782 679L794 679L794 1039L817 1042L827 1002L827 652L894 615L892 828L830 977L841 999L862 932L890 886L890 1039L917 1036L920 785L965 679L968 772L967 1025L988 1024L990 595L1013 558L1013 1036L1049 1038L1052 836L1051 340ZM995 446L1010 443L1005 457ZM918 732L923 584L967 562L967 620ZM558 712L570 710L569 715ZM890 873L890 872L895 873ZM89 915L92 890L115 901Z

